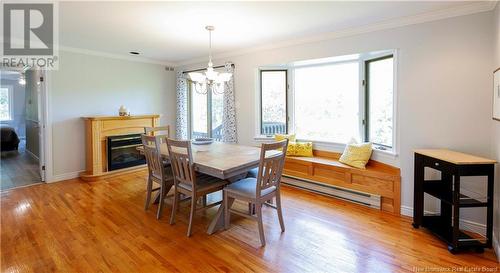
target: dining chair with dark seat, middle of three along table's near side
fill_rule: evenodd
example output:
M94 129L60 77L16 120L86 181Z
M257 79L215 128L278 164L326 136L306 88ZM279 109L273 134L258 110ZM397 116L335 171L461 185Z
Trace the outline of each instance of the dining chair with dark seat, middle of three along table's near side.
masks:
M174 174L174 205L170 216L170 224L172 225L175 223L175 214L179 206L179 195L184 194L191 197L191 211L189 213L187 231L187 236L190 237L192 234L195 212L222 203L222 201L218 201L207 205L204 201L202 207L196 208L198 198L206 198L207 194L222 190L227 184L227 181L195 171L190 141L169 138L167 139L167 147Z

